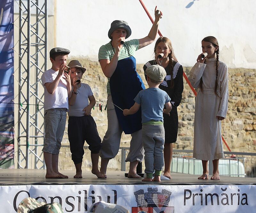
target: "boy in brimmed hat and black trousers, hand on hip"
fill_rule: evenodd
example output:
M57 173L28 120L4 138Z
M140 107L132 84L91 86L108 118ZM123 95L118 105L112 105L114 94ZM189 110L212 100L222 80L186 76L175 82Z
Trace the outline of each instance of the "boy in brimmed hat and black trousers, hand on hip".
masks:
M84 141L89 145L92 159L92 174L98 178L104 178L98 169L101 139L97 131L96 123L92 117L92 107L96 104L91 87L81 83L81 78L86 69L78 60L68 63L72 85L72 95L68 99L68 140L72 161L76 167L74 178L83 178L82 162L84 155ZM89 103L89 101L90 103Z

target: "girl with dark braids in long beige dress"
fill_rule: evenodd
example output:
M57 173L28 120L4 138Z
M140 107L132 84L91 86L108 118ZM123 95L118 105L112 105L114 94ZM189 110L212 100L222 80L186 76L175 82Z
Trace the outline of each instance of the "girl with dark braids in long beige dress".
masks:
M228 67L219 61L219 44L215 37L202 40L202 51L189 72L189 81L199 91L196 96L193 157L202 160L203 174L208 179L208 161L213 162L211 180L219 180L219 159L224 158L221 121L228 111Z

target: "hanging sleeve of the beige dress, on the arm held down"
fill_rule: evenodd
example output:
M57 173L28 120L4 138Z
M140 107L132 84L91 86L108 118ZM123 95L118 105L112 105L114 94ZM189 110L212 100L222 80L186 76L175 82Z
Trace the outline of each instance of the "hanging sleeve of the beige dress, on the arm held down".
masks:
M217 116L226 117L228 111L228 67L223 67L223 75L220 79L220 108Z

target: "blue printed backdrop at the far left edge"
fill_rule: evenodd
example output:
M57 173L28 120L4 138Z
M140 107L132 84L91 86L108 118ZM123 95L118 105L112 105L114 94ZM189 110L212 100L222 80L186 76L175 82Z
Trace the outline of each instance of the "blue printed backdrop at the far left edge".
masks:
M13 4L0 0L0 168L14 167Z

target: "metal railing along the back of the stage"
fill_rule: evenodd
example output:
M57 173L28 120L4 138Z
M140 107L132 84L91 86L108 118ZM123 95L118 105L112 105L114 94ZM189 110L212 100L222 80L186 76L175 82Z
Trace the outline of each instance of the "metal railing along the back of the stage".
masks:
M65 150L66 149L66 150ZM91 152L88 146L84 146L83 170L91 170ZM125 162L129 147L120 147L118 154L108 164L108 171L128 171L129 163ZM65 154L65 158L61 157ZM183 174L202 174L201 160L192 157L193 150L173 150L171 172ZM70 157L69 157L69 156ZM219 161L220 175L231 177L256 177L256 153L224 152L225 158ZM71 160L69 146L61 146L59 167L62 170L75 170ZM100 158L99 158L100 165ZM142 171L145 170L142 163ZM209 170L212 170L209 163Z

